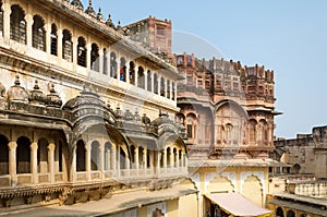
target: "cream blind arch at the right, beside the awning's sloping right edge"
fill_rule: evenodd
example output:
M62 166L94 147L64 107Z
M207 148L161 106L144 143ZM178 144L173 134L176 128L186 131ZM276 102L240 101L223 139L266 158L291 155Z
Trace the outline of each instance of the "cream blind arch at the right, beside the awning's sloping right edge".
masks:
M262 206L264 194L261 179L254 174L247 176L242 185L242 195Z

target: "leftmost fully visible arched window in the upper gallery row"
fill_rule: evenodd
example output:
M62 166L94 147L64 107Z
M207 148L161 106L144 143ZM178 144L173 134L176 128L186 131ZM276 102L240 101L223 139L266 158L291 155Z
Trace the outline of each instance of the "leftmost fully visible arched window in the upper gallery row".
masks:
M10 39L26 45L26 21L23 9L14 4L10 14Z

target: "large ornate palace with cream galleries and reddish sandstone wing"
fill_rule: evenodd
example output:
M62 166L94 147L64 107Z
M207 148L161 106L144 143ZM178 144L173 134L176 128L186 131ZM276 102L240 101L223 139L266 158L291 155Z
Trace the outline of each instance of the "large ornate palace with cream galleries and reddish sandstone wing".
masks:
M274 215L274 71L173 55L171 21L92 1L0 5L0 213Z

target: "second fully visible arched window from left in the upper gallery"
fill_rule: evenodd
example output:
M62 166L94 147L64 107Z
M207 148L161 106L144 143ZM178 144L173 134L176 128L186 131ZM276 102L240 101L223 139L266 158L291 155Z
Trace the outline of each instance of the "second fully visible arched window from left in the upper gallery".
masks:
M41 16L35 15L32 25L32 46L46 51L46 29L45 21Z

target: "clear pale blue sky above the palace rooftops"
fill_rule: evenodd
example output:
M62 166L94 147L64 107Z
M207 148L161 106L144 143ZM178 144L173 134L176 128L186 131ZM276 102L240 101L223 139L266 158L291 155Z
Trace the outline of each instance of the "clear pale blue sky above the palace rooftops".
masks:
M88 1L82 2L86 9ZM207 41L225 59L274 70L276 110L283 112L276 136L327 124L327 1L93 0L93 7L122 25L149 15L171 20L174 32ZM185 51L196 52L196 45Z

